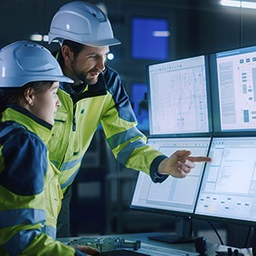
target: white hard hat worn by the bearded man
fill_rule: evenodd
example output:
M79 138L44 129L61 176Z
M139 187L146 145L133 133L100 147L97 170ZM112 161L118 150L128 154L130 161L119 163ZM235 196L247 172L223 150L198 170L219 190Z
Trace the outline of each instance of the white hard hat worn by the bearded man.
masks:
M82 1L67 3L56 12L49 28L49 44L54 39L95 47L120 44L113 37L107 15L95 5Z

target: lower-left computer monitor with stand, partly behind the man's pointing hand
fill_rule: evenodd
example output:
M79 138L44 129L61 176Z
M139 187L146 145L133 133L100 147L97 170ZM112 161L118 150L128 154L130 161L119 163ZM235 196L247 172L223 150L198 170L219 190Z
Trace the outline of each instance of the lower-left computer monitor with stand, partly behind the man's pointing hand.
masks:
M211 137L149 137L148 145L170 156L176 150L188 149L193 155L207 155ZM139 172L131 208L161 212L180 218L179 234L149 238L170 243L191 241L191 215L201 183L205 163L196 163L186 178L168 177L163 183L153 183L144 172Z

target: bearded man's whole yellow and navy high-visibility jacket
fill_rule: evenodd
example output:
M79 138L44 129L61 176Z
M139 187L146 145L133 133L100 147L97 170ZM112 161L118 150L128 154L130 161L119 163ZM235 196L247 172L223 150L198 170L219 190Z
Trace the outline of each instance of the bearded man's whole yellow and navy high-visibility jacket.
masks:
M156 170L166 158L146 144L137 130L137 119L118 73L106 67L96 84L77 93L67 83L60 84L53 136L48 143L49 158L61 171L61 189L65 192L79 172L81 160L101 123L114 157L128 168L143 171L154 182L163 181Z

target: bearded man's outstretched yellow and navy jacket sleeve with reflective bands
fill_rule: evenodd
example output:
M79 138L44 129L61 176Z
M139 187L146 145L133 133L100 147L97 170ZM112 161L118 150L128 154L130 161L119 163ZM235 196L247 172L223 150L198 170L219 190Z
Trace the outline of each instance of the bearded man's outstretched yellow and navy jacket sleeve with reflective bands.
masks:
M167 156L148 146L147 138L138 131L136 116L119 75L110 70L104 78L112 99L102 118L102 127L113 155L127 168L148 173L155 183L163 182L167 176L158 174L157 170Z

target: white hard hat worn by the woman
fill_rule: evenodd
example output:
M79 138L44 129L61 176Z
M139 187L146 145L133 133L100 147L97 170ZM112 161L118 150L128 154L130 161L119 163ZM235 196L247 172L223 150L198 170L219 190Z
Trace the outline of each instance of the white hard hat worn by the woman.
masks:
M21 87L37 81L73 83L42 45L17 41L0 50L0 87Z

